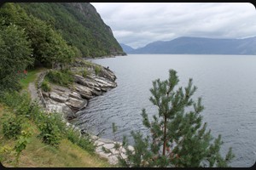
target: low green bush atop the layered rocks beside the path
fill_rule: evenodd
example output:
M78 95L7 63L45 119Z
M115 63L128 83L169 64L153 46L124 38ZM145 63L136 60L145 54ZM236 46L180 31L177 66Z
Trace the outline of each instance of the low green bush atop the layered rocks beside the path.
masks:
M63 71L49 71L46 75L49 82L59 84L61 86L68 86L73 83L73 73L68 70Z

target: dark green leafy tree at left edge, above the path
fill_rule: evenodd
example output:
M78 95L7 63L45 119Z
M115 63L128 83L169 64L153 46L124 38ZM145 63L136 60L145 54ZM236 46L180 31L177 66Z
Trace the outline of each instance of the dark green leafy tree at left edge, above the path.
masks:
M20 27L0 18L0 91L20 89L19 80L27 65L32 65L31 42Z

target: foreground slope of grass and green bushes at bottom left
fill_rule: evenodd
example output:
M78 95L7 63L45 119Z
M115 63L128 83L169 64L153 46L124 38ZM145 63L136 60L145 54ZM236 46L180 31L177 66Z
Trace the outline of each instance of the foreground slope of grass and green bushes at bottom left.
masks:
M60 115L46 114L28 99L26 92L1 95L0 161L4 166L110 167L94 154L90 138L80 138Z

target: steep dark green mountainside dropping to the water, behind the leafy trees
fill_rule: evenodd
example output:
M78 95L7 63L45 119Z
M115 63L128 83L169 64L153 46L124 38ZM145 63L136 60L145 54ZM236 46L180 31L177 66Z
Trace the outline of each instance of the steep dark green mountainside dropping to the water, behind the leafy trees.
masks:
M113 32L90 3L18 3L40 20L47 21L84 57L125 54Z

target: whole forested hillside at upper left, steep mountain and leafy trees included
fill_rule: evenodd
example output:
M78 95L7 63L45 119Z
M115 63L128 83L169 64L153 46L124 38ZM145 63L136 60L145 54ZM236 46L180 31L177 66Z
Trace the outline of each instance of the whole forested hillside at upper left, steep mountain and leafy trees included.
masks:
M15 88L28 68L125 54L90 3L3 3L0 28L0 88Z

